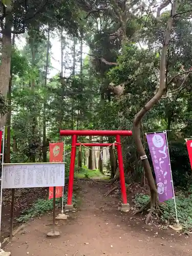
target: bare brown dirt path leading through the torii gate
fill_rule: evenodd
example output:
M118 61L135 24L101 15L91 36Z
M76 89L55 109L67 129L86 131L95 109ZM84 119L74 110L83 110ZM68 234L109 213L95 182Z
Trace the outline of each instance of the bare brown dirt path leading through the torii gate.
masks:
M130 219L131 214L121 214L117 211L118 200L104 198L109 188L98 183L78 182L80 211L71 214L66 222L58 222L59 238L46 238L51 231L51 215L46 215L28 223L26 233L18 233L5 250L12 256L191 255L190 238L180 238L172 231L158 230L155 234L157 229L152 226Z

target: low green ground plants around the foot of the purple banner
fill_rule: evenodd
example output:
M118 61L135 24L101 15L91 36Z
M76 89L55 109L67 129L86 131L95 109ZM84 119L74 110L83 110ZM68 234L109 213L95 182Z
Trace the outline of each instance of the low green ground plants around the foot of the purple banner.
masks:
M134 202L136 206L142 207L150 201L148 195L137 194L135 196ZM185 195L184 193L176 193L176 204L177 204L177 214L178 220L182 225L183 229L192 229L192 194ZM173 222L176 220L176 212L174 200L168 200L165 204L160 204L160 209L162 211L161 220Z

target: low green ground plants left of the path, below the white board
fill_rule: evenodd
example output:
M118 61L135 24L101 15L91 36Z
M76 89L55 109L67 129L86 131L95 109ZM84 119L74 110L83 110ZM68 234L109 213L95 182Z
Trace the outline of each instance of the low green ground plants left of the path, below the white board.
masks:
M73 196L72 198L73 204L77 204L77 201L75 199L75 197ZM55 204L56 206L59 206L59 202L60 199L56 198L55 200ZM67 203L67 195L63 196L63 203L64 205ZM18 222L27 222L28 220L30 220L33 217L36 216L42 216L43 214L45 214L45 212L50 211L53 209L53 199L49 200L49 199L38 199L36 202L34 202L34 204L32 205L32 207L28 210L25 210L22 214L22 216L20 216L19 218L17 218Z

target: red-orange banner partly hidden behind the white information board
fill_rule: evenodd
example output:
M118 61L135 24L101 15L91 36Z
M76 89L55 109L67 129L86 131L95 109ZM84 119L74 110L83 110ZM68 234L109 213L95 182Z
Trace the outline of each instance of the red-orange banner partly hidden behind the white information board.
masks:
M63 161L63 142L49 143L49 161L62 162ZM62 197L62 187L56 187L55 198ZM53 187L49 187L49 199L53 198Z

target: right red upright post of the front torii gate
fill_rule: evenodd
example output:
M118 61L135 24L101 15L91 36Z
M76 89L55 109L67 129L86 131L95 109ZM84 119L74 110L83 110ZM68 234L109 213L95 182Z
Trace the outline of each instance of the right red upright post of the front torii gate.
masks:
M120 183L121 183L121 197L122 197L123 204L127 204L120 135L116 135L116 142L117 142L117 155L118 155L118 163L119 163L119 176L120 176Z

